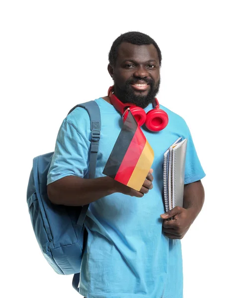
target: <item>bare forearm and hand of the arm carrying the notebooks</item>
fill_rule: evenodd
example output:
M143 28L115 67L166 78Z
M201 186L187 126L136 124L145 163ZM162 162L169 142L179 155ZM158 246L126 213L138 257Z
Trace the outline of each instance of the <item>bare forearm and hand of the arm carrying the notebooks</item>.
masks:
M204 203L204 188L201 181L184 186L183 208L174 207L161 215L163 230L171 239L182 239L194 222ZM173 220L169 220L172 218Z

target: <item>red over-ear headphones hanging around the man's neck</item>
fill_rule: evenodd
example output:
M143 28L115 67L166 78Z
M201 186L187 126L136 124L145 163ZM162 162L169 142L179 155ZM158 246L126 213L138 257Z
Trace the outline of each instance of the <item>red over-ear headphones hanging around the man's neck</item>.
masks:
M159 132L168 125L167 113L160 109L158 99L155 98L154 109L145 112L144 109L134 105L133 103L123 103L113 94L113 86L108 89L108 96L112 105L122 114L123 122L128 116L130 109L132 115L136 119L139 126L145 123L145 126L152 132Z

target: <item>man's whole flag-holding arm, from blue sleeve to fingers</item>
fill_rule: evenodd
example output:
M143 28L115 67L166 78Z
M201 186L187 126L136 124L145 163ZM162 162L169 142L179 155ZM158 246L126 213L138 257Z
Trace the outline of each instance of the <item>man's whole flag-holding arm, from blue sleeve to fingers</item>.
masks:
M152 188L152 171L140 192L110 177L83 178L88 171L90 121L87 112L82 113L82 125L70 115L59 130L47 176L49 200L54 204L84 206L116 192L142 197ZM76 127L83 127L82 133Z

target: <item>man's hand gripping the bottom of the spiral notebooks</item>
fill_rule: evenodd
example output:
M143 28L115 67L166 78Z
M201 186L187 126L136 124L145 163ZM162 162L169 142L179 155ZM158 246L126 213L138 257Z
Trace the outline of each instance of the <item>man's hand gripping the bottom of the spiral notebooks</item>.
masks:
M163 231L170 239L182 239L194 221L190 210L182 207L174 207L160 216L164 219ZM171 220L168 220L172 218Z

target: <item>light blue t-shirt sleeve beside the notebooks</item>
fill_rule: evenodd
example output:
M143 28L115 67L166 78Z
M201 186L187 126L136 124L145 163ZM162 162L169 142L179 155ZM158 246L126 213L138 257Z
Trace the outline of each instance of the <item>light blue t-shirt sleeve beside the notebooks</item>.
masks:
M200 164L196 149L194 147L192 136L188 126L186 126L185 138L187 139L184 184L198 181L205 177L205 172Z

